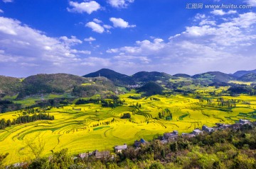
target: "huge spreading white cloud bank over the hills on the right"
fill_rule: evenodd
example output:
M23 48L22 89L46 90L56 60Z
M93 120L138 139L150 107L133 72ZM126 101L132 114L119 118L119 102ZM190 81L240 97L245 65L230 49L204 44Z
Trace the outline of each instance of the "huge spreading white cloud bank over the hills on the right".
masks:
M238 14L225 21L220 17L223 16L196 15L196 23L169 37L168 42L154 38L106 52L124 68L135 66L138 69L188 74L255 69L252 63L256 53L256 13ZM142 58L148 61L134 61Z

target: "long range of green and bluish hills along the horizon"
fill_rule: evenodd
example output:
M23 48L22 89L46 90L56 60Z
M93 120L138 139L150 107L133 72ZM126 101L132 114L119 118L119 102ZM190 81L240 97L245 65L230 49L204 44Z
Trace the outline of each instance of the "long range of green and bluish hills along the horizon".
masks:
M179 80L186 85L225 85L230 81L256 82L256 69L252 71L237 71L235 74L225 74L220 71L209 71L203 74L189 76L187 74L175 74L174 76L157 71L139 71L132 76L119 74L110 69L75 76L71 74L37 74L27 78L12 78L0 76L0 95L18 95L17 98L24 98L28 95L41 93L73 93L79 97L102 94L107 91L117 91L117 86L139 87L146 83L154 82L165 88L175 88L170 80ZM154 86L150 84L149 86Z

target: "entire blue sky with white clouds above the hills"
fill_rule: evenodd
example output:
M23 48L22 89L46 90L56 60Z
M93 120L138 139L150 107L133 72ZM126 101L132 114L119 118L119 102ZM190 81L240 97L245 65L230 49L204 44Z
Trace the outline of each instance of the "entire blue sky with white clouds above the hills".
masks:
M195 3L203 7L191 8ZM238 8L206 7L218 4ZM256 0L0 0L0 75L256 69L255 6Z

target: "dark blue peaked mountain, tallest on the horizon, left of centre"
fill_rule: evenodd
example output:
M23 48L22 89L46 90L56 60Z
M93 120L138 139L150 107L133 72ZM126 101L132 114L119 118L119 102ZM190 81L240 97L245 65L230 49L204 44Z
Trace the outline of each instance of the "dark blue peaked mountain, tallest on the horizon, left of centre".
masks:
M99 71L92 72L90 74L86 74L83 77L99 77L104 76L111 81L113 81L116 85L131 85L134 83L130 76L125 74L119 74L116 71L112 71L110 69L100 69Z

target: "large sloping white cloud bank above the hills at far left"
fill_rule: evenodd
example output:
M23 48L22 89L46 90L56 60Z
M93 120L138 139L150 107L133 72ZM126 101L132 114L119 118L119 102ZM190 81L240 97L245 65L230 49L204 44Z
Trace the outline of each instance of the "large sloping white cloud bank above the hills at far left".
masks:
M48 37L20 21L0 17L1 74L7 72L9 75L23 76L68 71L71 64L80 64L81 56L90 54L87 50L73 49L74 45L81 43L75 36ZM28 66L37 68L31 72Z

